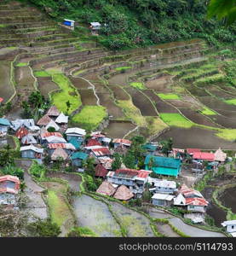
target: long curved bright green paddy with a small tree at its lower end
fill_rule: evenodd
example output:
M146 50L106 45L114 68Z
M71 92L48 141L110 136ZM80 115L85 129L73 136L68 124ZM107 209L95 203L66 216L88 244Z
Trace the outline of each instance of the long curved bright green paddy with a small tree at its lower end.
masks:
M55 84L60 87L60 92L56 92L52 96L52 100L56 108L60 111L67 113L66 102L71 103L71 107L68 109L68 114L71 114L74 110L78 109L81 105L81 98L78 94L78 90L72 87L71 81L66 78L62 73L56 73L52 75Z

